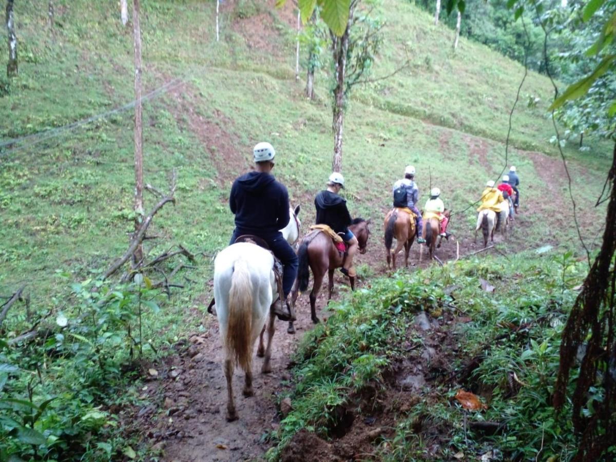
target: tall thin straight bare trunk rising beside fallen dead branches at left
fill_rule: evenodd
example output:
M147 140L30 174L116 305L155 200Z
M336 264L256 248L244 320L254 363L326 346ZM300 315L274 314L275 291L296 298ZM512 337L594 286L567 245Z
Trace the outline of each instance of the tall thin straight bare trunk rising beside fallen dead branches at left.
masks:
M144 155L142 146L142 105L141 105L141 30L139 24L139 0L132 0L132 31L135 53L135 232L139 230L144 214ZM143 259L141 245L133 254L133 264Z

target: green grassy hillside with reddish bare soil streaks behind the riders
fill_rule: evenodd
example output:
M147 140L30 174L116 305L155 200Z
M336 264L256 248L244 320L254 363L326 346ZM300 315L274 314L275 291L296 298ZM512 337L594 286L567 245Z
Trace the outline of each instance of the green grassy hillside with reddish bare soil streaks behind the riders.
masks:
M49 320L58 312L79 312L76 300L83 293L74 284L99 275L125 251L134 183L132 110L115 111L133 95L132 28L121 26L115 2L55 4L50 30L46 2L16 2L20 75L10 82L0 78L0 294L27 282L30 308ZM387 26L373 77L388 75L407 56L411 64L352 95L343 172L352 213L376 223L370 251L380 258L379 222L406 164L415 164L422 192L438 185L454 211L466 209L485 181L505 168L508 115L524 70L466 39L453 54L452 32L408 2L384 2L377 14ZM144 105L145 182L164 189L172 169L178 177L176 205L166 206L150 231L162 238L148 241L146 251L156 256L181 244L198 256L195 268L180 278L185 288L165 301L164 310L147 314L144 338L154 347L204 328L200 314L210 297L211 258L233 228L230 185L250 168L257 141L274 144L274 173L288 186L292 203L302 205L304 224L314 217L312 200L331 169L330 86L328 70L320 71L317 101L304 98L302 82L294 79L294 21L290 1L275 10L273 1L229 0L216 43L211 2L142 5L144 94L162 87ZM6 58L1 40L2 68ZM546 243L580 248L564 169L549 144L553 131L545 110L551 94L548 79L530 72L507 161L521 176L523 214L509 241L499 244L503 251ZM529 96L540 98L536 107L527 105ZM564 152L582 234L591 246L601 230L602 210L594 201L609 150L592 139L588 148L580 152L573 142ZM154 203L146 195L146 209ZM474 220L474 208L452 220L461 253L469 250ZM364 264L364 275L379 271L373 263ZM29 322L25 309L12 310L3 326L7 338ZM77 383L68 374L62 380L67 390ZM92 383L88 378L82 385ZM41 389L51 394L52 387L53 381ZM100 400L84 398L91 406Z

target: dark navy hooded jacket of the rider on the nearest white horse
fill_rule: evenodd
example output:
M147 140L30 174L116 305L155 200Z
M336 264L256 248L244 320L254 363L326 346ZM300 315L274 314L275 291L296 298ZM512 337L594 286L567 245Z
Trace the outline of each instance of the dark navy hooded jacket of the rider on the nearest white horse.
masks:
M289 222L289 194L269 173L249 172L233 182L229 206L241 234L279 237Z

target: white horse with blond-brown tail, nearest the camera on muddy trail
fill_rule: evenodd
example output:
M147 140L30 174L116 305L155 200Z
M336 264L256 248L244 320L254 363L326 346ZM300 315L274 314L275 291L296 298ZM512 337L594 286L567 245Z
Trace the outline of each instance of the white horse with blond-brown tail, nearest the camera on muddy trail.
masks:
M238 418L233 402L233 368L237 364L246 373L243 395L253 396L253 347L259 337L259 351L265 360L262 373L272 371L272 337L275 315L270 312L277 296L274 257L255 244L240 242L223 249L214 260L214 299L224 348L224 373L227 378L227 421ZM267 349L262 330L267 324Z

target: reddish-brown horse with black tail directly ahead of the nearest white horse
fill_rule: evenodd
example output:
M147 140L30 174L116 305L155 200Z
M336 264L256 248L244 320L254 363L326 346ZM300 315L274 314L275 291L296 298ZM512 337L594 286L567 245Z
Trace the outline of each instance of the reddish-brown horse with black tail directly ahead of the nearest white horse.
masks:
M349 229L357 237L359 241L359 253L366 253L366 246L368 245L368 237L370 237L370 230L368 225L370 219L364 220L363 218L355 218ZM318 292L321 290L323 283L323 277L325 272L329 275L329 295L328 300L331 299L331 293L334 288L334 270L342 267L344 256L334 246L331 237L325 233L314 230L308 233L303 239L298 249L298 278L293 286L293 293L291 294L291 302L293 305L298 299L298 291L305 292L308 289L308 283L310 278L310 270L312 270L312 276L314 277L314 284L312 285L312 291L310 292L310 315L312 322L318 323L317 312L315 304L317 302ZM351 290L355 290L355 277L349 277L351 280ZM286 330L288 333L295 333L293 322L289 322L289 327Z

